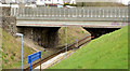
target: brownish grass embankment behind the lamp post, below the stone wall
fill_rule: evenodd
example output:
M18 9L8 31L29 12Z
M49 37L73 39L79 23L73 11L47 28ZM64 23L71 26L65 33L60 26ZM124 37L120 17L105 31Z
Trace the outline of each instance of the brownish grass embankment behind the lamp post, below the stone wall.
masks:
M24 63L27 63L28 55L35 51L24 45ZM22 47L21 42L17 42L11 34L2 31L2 68L12 69L21 68L22 66Z

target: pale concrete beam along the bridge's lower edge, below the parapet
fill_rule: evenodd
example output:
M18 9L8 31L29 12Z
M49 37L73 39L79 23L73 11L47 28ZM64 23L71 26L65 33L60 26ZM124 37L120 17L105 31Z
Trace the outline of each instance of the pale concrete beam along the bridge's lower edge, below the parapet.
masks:
M122 22L64 22L64 20L17 20L21 27L88 27L88 28L121 28L128 25Z

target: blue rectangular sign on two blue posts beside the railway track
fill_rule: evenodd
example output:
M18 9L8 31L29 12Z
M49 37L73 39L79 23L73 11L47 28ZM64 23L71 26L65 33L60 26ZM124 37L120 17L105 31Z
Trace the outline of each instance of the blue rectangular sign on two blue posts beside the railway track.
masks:
M31 71L31 62L37 59L40 59L40 71L41 71L41 51L28 56L28 63L30 63L30 71Z

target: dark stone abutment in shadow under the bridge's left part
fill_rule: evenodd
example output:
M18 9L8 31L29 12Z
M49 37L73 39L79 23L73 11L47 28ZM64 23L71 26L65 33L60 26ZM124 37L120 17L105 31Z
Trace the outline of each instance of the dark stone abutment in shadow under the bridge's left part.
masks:
M18 27L17 32L44 48L53 48L58 44L58 29L55 27Z

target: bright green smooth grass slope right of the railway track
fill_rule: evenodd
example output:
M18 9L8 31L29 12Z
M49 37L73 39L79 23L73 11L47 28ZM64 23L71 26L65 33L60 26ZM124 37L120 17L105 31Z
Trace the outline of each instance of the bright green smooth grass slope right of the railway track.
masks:
M127 69L128 27L102 36L51 69Z

